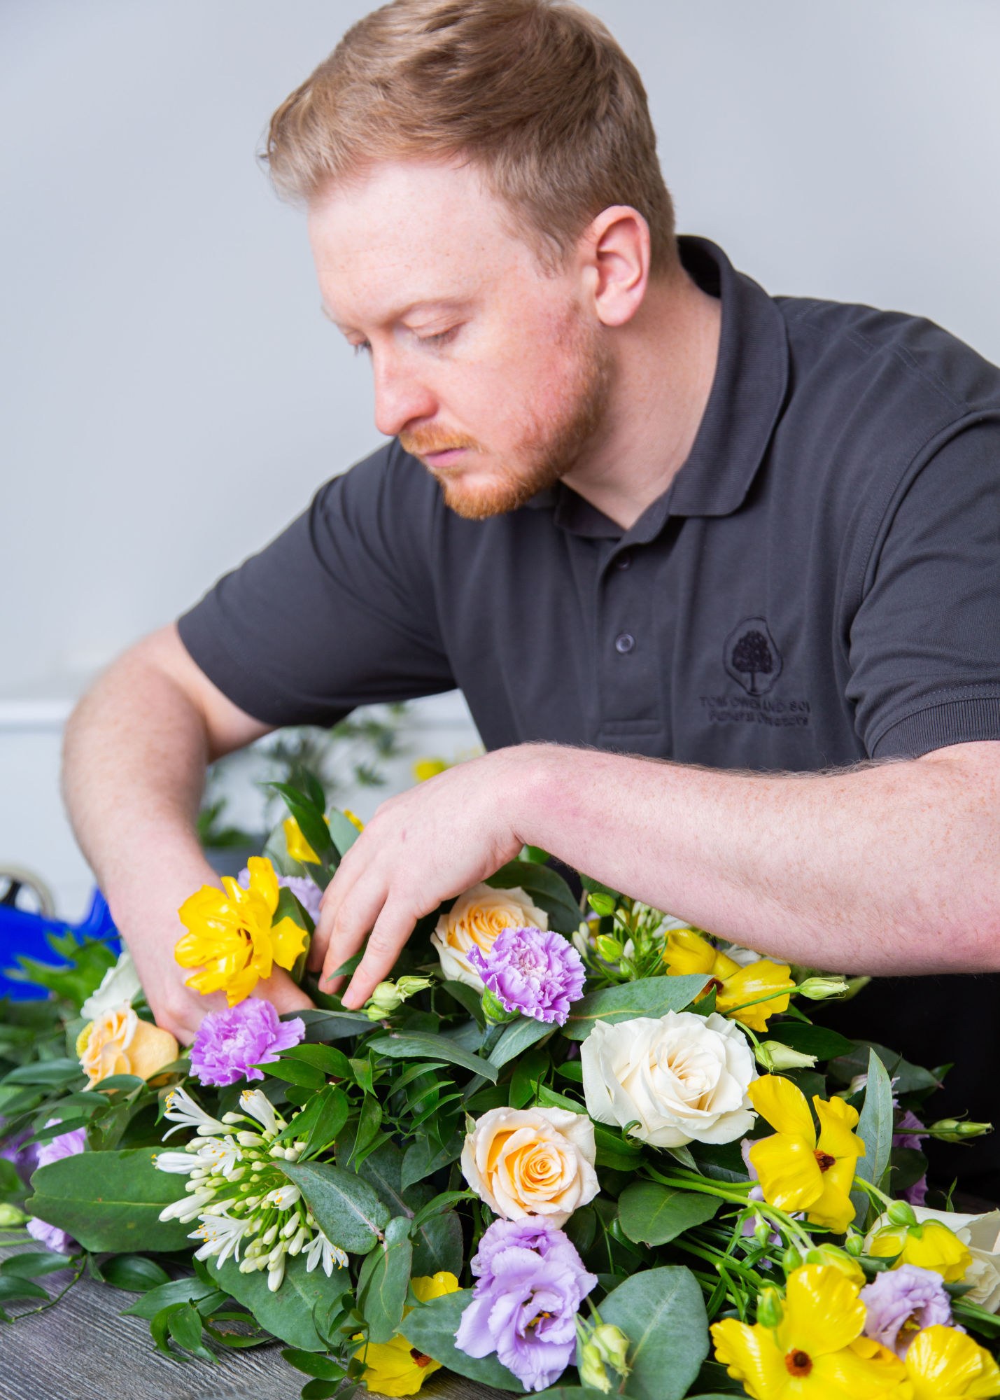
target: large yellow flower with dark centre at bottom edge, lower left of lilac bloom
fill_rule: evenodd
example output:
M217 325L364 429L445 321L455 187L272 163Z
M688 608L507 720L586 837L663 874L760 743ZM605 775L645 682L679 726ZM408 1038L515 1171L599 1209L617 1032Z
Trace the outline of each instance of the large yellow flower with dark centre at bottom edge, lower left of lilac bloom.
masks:
M905 1372L888 1348L861 1336L866 1308L857 1295L857 1284L839 1268L797 1268L777 1327L730 1317L713 1324L716 1359L754 1400L875 1400Z

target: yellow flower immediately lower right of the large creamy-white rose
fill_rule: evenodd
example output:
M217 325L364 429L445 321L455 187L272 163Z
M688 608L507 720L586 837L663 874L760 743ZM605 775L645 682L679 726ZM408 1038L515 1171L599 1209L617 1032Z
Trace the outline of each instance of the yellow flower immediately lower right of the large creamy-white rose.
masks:
M790 1079L766 1074L746 1092L756 1112L777 1128L749 1149L763 1198L783 1211L807 1211L814 1225L843 1233L854 1219L850 1189L857 1159L864 1156L864 1142L852 1131L857 1109L815 1095L817 1141L805 1095Z

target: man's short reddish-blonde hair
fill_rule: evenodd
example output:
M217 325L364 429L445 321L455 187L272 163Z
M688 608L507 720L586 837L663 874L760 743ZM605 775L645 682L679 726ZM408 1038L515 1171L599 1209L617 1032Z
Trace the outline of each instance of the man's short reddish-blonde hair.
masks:
M392 0L286 98L263 153L298 200L413 157L480 168L550 267L611 204L646 218L654 274L678 267L641 78L567 0Z

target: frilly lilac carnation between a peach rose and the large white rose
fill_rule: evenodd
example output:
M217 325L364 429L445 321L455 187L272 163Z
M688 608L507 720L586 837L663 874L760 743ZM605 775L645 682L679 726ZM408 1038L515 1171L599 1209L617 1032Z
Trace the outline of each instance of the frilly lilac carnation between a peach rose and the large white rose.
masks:
M468 959L504 1011L566 1025L570 1004L583 995L584 965L573 944L543 928L504 928L483 953Z

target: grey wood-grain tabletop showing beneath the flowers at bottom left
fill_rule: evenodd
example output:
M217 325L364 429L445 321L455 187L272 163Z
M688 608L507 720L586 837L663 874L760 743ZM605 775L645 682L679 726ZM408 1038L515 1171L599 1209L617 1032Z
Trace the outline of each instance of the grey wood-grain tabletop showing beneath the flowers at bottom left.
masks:
M0 1249L0 1257L17 1252ZM69 1278L56 1273L36 1281L52 1296ZM280 1343L245 1351L213 1347L218 1365L168 1358L153 1345L144 1319L120 1316L136 1296L84 1275L46 1312L0 1323L0 1400L298 1400L310 1378L282 1359ZM8 1312L24 1306L11 1303ZM511 1400L445 1371L426 1380L420 1396Z

